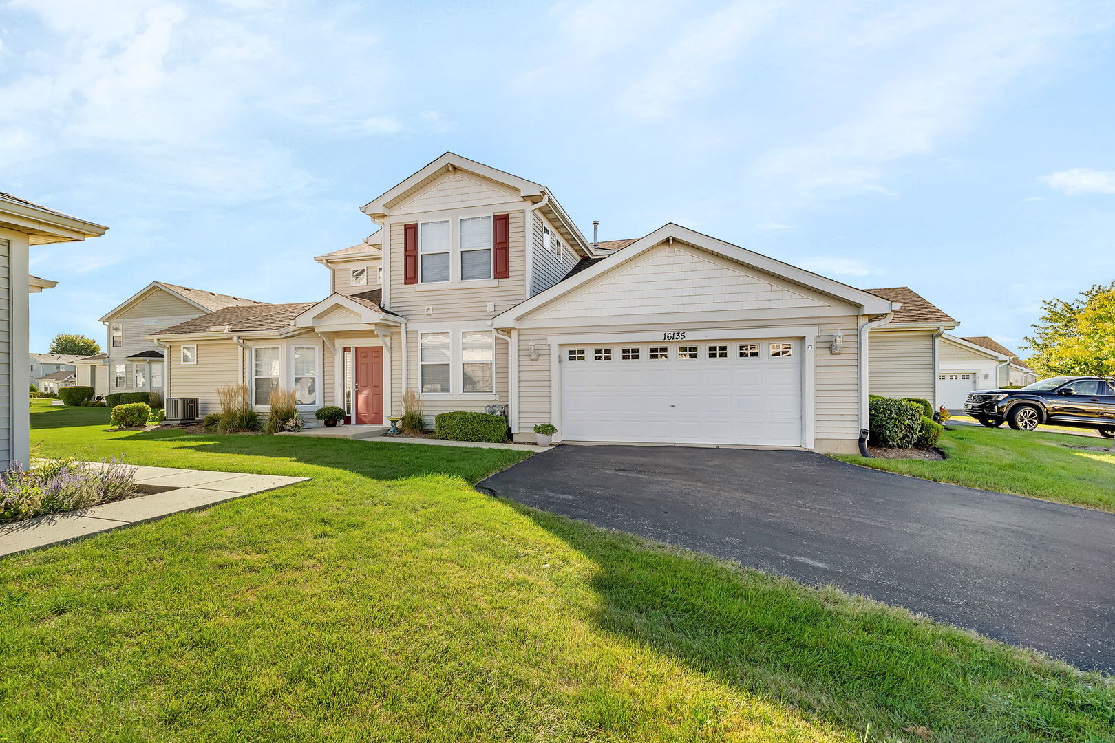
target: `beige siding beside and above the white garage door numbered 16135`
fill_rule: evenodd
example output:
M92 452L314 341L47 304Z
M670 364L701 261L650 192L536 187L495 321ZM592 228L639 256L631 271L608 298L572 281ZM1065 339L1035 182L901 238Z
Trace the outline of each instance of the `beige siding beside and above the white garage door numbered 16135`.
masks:
M856 348L856 327L859 319L855 315L833 317L784 317L777 320L717 321L699 322L687 317L678 319L673 324L686 330L758 330L772 329L772 336L777 336L778 327L816 325L818 327L818 344L815 352L814 398L815 428L814 438L821 439L855 439L859 437L859 351ZM516 432L524 433L534 429L537 423L554 423L550 420L551 381L550 381L550 345L547 336L566 335L571 333L623 333L657 330L657 326L632 325L570 325L566 327L524 329L518 331L518 411ZM824 339L832 338L840 330L844 335L844 345L838 354L831 354L824 345ZM530 342L534 341L537 360L530 358ZM806 370L808 373L808 370Z

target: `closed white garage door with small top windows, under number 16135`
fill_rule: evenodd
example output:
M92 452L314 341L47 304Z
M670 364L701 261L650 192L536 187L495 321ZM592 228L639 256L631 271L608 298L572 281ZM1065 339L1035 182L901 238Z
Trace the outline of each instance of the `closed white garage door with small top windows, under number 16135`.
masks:
M562 438L802 446L802 341L561 348Z

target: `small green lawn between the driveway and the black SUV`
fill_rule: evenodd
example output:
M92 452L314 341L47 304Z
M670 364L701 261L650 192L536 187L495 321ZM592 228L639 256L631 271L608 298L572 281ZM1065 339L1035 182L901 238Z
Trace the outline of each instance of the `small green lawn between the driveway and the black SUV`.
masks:
M1078 448L1107 448L1111 439L954 426L938 446L948 454L943 460L837 459L927 480L1115 512L1115 452Z

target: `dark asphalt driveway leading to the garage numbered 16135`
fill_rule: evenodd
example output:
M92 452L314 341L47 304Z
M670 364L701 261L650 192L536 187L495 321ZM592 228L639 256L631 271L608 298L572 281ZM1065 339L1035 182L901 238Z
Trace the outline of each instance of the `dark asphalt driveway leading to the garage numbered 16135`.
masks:
M1115 672L1113 514L803 451L565 446L478 487Z

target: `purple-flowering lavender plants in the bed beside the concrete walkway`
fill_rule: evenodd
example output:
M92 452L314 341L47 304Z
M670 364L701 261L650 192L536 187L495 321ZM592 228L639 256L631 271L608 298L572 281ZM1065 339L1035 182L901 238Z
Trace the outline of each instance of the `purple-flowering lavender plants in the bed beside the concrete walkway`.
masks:
M0 521L89 508L135 495L136 468L113 458L100 467L74 458L0 472Z

